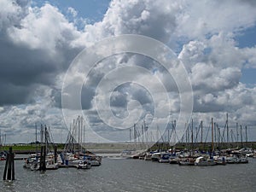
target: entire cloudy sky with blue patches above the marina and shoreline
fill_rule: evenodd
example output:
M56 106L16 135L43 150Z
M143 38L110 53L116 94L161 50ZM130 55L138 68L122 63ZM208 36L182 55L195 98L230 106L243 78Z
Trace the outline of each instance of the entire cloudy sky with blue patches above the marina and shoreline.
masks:
M159 61L113 52L129 44L141 53L166 46L171 60L165 50L153 53ZM102 60L90 63L88 54ZM129 141L144 122L157 138L174 120L181 138L191 119L207 132L213 118L225 134L227 113L230 141L236 123L239 137L247 125L248 140L256 138L253 0L0 0L0 67L6 143L33 142L41 124L64 143L79 115L86 142Z

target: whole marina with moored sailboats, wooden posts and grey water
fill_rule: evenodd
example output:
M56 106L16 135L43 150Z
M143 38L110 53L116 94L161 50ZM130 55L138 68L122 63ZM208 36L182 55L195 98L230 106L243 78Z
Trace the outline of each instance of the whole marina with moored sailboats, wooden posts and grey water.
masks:
M172 145L158 142L148 149L142 148L143 143L135 134L136 143L86 144L81 127L74 124L67 143L61 145L63 148L51 142L46 125L41 125L41 142L34 143L36 148L15 151L9 146L6 154L16 153L10 155L14 157L10 168L5 163L9 160L2 156L0 175L5 177L8 170L8 178L1 181L0 188L11 192L45 191L45 187L48 191L251 192L256 189L255 143L216 143L213 121L212 142L198 143L188 126L184 133L186 140ZM86 146L90 149L85 149ZM14 172L15 177L9 177Z

